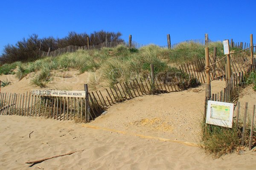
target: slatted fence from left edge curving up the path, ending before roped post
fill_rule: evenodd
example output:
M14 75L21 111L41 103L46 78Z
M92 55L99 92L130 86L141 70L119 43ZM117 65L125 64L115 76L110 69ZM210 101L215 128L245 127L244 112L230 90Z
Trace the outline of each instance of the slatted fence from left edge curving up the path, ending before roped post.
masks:
M88 92L87 98L36 96L31 92L0 93L0 114L44 116L56 120L80 119L88 122L118 102L143 95L182 91L199 84L195 77L188 76L182 70L177 75L144 75L127 82L119 82L104 91ZM190 79L195 82L189 82Z

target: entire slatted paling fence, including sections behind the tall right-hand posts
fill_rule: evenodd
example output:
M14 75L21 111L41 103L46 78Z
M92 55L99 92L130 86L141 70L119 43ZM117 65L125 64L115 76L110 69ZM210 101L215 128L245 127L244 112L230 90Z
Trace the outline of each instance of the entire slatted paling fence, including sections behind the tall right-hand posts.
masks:
M210 57L211 66L210 78L225 80L225 61L218 62L217 57ZM178 65L178 72L175 74L160 73L157 75L145 75L136 77L127 82L119 82L104 91L92 91L86 98L77 97L50 97L35 96L30 92L23 94L1 93L0 114L20 116L45 116L57 120L81 119L88 122L99 116L106 108L117 102L133 99L154 93L169 93L182 91L187 88L206 82L204 59L197 59L193 62ZM232 84L235 87L242 83L243 76L251 71L250 59L247 57L234 57L231 59ZM154 69L153 69L154 70ZM226 101L226 90L214 94L215 98Z

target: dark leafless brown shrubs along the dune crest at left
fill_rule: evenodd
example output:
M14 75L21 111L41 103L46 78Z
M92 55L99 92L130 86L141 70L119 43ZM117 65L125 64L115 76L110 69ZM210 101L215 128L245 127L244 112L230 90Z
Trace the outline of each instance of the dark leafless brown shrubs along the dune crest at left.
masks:
M78 34L70 32L64 38L38 38L37 34L32 34L29 38L18 41L15 45L6 45L3 54L0 56L0 64L12 63L16 61L35 61L38 59L39 49L41 51L54 51L58 48L64 48L69 45L84 46L87 44L87 37L90 39L90 45L97 45L105 42L108 35L108 42L123 41L120 32L94 31L93 33Z

